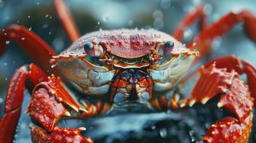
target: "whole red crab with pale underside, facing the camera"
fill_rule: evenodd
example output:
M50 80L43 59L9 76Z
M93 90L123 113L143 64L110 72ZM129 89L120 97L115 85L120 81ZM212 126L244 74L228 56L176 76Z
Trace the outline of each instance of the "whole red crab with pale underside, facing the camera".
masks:
M230 116L211 125L201 141L248 141L256 95L255 67L232 55L185 74L211 49L215 37L223 36L240 21L245 21L246 34L256 42L256 17L249 11L229 13L206 27L203 5L198 5L172 36L137 29L80 36L64 1L55 0L54 5L72 41L59 55L26 27L13 25L0 32L1 54L7 48L6 41L14 40L38 63L20 67L11 79L0 122L0 142L14 139L25 87L32 93L26 110L32 142L93 142L81 135L84 127L61 128L58 123L113 110L175 111L207 104L215 97L215 106L226 108ZM198 18L202 19L202 32L187 45L179 42L184 29ZM248 85L241 79L242 73L247 75Z

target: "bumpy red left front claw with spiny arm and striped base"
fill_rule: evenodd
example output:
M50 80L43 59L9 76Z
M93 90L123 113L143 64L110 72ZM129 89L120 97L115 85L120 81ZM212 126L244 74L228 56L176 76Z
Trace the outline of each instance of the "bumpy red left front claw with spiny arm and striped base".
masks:
M32 141L92 142L90 138L80 134L81 130L85 130L83 127L74 130L57 125L60 120L92 116L103 113L110 107L108 104L101 104L100 101L96 105L82 102L84 106L70 95L60 79L55 76L49 77L48 82L39 83L27 108L32 120L29 125Z

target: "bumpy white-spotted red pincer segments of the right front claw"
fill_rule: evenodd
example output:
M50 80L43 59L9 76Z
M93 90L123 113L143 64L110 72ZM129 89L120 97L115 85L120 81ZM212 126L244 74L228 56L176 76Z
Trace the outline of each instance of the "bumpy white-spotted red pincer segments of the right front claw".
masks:
M227 94L221 95L218 102L218 107L227 108L235 117L225 117L212 125L202 141L247 142L252 128L253 101L245 83L235 77Z

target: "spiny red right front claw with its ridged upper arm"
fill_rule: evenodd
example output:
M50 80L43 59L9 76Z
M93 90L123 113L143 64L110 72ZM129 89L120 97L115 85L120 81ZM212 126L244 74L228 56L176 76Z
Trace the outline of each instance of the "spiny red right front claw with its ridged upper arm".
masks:
M196 81L195 86L192 84ZM190 89L189 87L192 87ZM202 141L206 142L247 142L252 127L252 107L254 99L248 87L235 71L217 69L215 64L201 67L193 76L181 83L179 88L186 97L177 102L179 107L192 107L196 102L205 104L221 95L217 107L226 108L235 117L218 120L207 131ZM176 95L177 96L177 95ZM177 99L177 98L176 98Z

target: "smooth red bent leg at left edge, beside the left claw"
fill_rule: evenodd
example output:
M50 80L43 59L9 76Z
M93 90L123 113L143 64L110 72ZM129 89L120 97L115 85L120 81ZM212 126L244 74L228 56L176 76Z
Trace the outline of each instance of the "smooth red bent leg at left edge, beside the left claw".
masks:
M34 64L25 65L16 70L7 91L4 117L0 122L0 142L13 142L20 117L26 78L29 78L34 86L47 80L43 71Z

